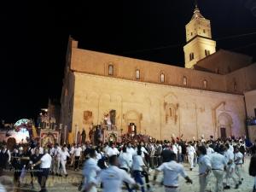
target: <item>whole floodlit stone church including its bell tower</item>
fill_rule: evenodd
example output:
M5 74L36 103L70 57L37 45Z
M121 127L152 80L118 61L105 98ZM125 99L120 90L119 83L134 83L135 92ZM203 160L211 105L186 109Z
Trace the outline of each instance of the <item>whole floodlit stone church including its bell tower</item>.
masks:
M243 93L256 89L256 63L247 55L216 52L210 20L197 7L186 40L184 67L176 67L80 49L70 38L61 93L69 143L113 111L122 133L133 123L138 133L161 140L244 136Z

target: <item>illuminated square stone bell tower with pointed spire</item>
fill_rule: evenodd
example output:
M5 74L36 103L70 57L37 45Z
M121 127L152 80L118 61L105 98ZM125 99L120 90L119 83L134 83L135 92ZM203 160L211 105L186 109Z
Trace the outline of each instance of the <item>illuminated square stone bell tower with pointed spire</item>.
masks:
M192 19L186 25L186 41L183 47L185 67L194 68L197 61L216 52L216 42L212 40L211 21L201 15L195 1Z

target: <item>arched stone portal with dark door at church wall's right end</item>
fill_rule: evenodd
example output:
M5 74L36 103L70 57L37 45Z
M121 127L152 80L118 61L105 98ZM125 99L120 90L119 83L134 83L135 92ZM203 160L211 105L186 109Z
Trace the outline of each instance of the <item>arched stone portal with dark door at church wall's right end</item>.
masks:
M218 137L232 136L233 119L229 113L220 113L218 115Z

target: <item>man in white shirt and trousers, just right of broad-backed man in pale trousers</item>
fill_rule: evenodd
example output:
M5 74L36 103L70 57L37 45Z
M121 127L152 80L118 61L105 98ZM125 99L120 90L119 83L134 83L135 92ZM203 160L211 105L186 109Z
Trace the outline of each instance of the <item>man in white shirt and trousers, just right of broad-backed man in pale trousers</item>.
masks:
M227 169L226 169L226 186L224 186L224 189L230 189L230 178L233 179L234 183L236 184L235 189L238 189L239 183L236 181L235 178L235 164L234 164L234 154L229 149L230 145L229 143L225 143L224 145L224 157L227 161Z

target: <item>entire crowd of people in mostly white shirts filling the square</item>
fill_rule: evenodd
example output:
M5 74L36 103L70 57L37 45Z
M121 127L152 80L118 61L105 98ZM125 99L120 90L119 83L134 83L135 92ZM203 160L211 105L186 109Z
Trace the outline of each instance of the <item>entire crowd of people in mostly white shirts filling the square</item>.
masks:
M46 181L49 175L68 177L67 166L78 172L82 168L83 179L80 190L94 192L101 186L105 192L119 192L123 184L134 190L154 191L154 185L160 184L166 192L178 190L178 177L187 183L193 183L184 170L183 163L189 163L189 171L198 166L200 192L207 190L209 176L215 177L215 191L238 189L243 178L241 166L246 154L252 155L249 174L254 177L253 192L256 192L256 141L248 146L244 139L230 137L206 141L183 141L172 138L171 141L157 141L152 137L140 135L134 139L123 137L122 143L91 143L82 145L40 146L31 144L27 148L17 146L13 151L6 144L0 149L0 174L6 170L14 171L15 187L22 185L26 174L31 176L31 186L38 179L41 192L47 191ZM163 179L158 180L159 172ZM149 181L152 175L153 180ZM230 180L234 184L231 186Z

